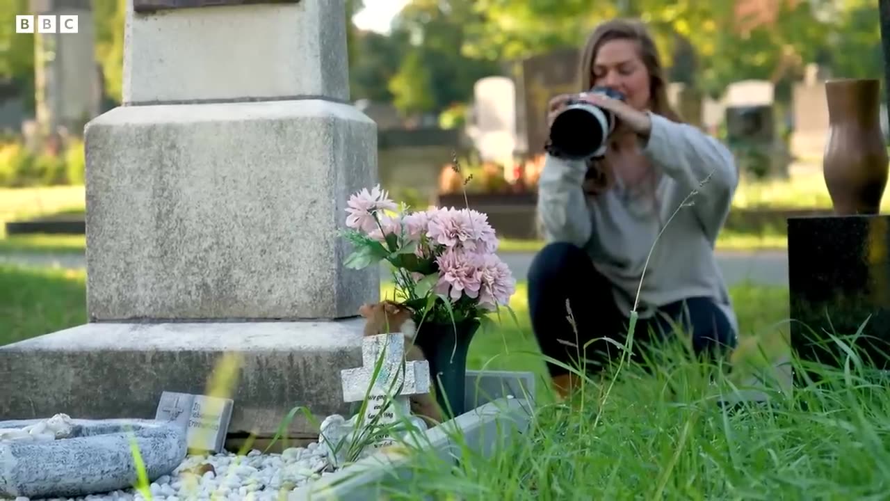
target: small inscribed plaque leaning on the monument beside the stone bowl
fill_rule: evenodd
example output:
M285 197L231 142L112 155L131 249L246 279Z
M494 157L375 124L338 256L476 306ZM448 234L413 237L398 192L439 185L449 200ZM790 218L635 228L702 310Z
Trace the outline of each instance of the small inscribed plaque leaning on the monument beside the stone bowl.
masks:
M176 423L185 430L190 450L222 452L233 403L231 398L165 391L155 419Z

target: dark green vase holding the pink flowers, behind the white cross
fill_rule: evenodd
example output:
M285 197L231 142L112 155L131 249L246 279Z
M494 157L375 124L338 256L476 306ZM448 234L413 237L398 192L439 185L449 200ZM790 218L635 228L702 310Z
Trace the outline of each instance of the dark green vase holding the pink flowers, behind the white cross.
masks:
M479 325L474 318L456 323L424 321L417 330L415 344L430 364L430 382L443 420L466 412L466 352Z

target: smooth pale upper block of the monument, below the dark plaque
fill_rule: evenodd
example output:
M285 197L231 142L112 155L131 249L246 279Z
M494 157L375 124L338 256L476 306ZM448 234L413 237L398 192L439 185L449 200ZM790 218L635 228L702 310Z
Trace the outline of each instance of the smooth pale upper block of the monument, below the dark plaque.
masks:
M134 12L123 102L349 100L344 0Z

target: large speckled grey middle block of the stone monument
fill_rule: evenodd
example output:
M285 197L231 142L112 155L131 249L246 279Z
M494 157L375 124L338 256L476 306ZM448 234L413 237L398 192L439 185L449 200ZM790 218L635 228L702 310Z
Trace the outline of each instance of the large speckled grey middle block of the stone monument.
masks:
M354 107L118 107L85 152L90 321L327 319L379 299L376 267L342 266L346 201L377 177Z

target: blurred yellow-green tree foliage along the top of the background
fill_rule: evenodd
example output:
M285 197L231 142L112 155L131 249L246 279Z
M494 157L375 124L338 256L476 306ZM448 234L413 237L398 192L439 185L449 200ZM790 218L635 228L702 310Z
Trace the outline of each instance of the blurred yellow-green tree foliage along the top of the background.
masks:
M93 0L96 60L119 100L128 0ZM363 0L347 0L352 18ZM472 98L473 83L536 53L579 46L611 17L639 16L675 81L721 94L732 81L799 77L807 62L836 77L880 77L876 0L781 0L775 22L745 29L734 0L411 0L383 36L347 31L352 98L393 101L403 112L443 111ZM0 0L0 83L33 93L34 36L15 33L28 0ZM687 44L694 48L688 51ZM678 55L679 54L679 55ZM425 95L422 95L425 94Z

